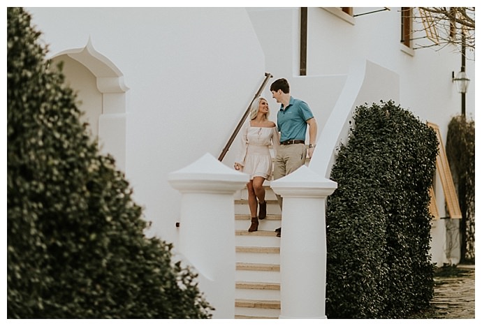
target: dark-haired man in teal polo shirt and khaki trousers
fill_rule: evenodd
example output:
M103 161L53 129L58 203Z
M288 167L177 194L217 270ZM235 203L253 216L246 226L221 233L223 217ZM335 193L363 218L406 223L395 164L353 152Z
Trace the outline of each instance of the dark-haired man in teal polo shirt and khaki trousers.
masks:
M289 83L286 79L275 80L270 86L272 97L281 103L278 111L278 131L280 147L275 158L273 177L279 179L305 164L307 156L312 157L316 146L318 125L312 110L307 103L290 95ZM307 127L309 126L309 142L305 144ZM283 198L277 195L279 207L283 209ZM276 236L281 237L281 228L277 228Z

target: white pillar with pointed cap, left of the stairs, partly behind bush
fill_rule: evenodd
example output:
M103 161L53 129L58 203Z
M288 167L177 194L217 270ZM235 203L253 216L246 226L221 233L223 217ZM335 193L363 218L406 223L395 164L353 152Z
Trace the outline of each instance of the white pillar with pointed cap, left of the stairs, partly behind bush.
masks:
M249 175L205 154L168 181L182 193L179 250L199 274L199 290L214 306L213 318L234 318L234 193Z

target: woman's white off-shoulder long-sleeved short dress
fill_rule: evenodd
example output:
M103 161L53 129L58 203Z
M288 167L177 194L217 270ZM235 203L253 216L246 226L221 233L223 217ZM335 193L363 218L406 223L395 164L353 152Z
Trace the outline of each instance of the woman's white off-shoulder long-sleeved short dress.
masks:
M270 145L274 157L279 148L279 133L277 127L251 127L249 122L241 129L242 142L240 153L235 163L242 165L241 171L254 177L268 179L272 172Z

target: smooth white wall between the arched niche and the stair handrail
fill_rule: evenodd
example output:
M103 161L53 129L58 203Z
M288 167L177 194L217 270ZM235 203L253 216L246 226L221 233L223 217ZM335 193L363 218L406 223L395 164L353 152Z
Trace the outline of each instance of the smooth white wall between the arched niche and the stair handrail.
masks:
M264 78L246 10L27 10L51 57L85 47L90 38L124 75L126 177L153 222L148 234L176 244L181 195L168 173L207 152L218 157Z

